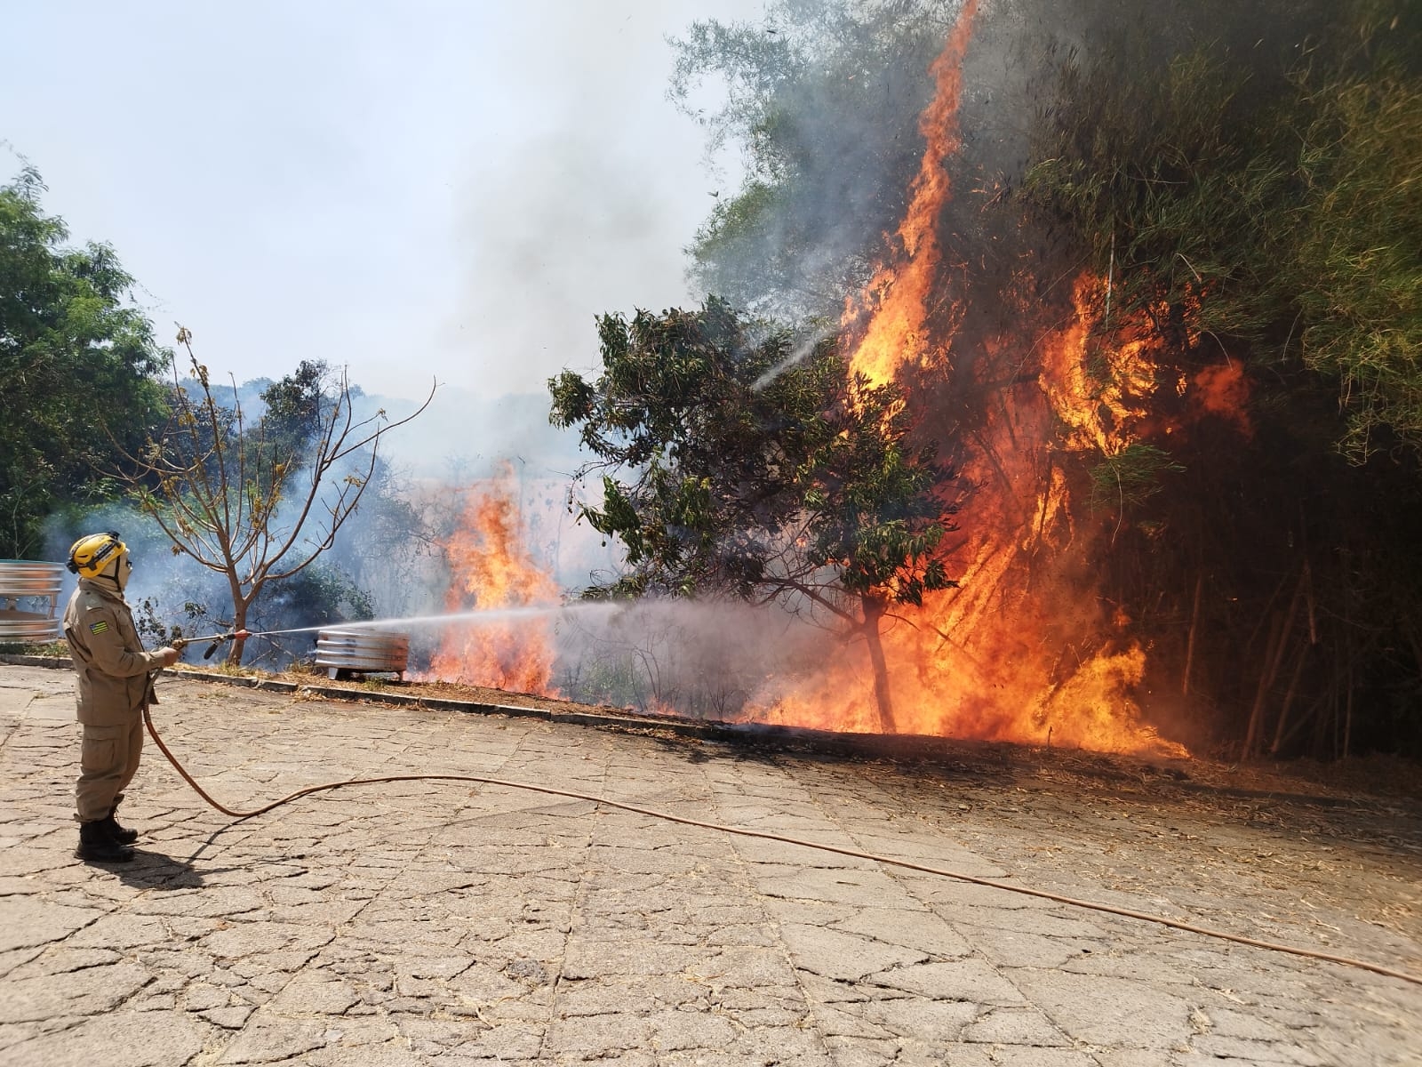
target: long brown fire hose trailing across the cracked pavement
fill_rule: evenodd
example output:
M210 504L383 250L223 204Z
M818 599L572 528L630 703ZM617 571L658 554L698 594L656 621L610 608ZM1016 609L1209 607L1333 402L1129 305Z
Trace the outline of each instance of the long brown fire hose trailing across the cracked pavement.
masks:
M232 635L229 635L230 637ZM206 637L193 637L192 640L201 642L208 640ZM220 643L220 642L219 642ZM213 646L216 647L216 644ZM210 652L210 650L209 650ZM1338 963L1345 967L1358 967L1361 970L1369 970L1375 975L1385 975L1386 977L1401 979L1402 982L1411 982L1412 984L1422 986L1422 977L1418 975L1409 975L1404 970L1394 970L1392 967L1385 967L1379 963L1369 963L1368 960L1351 959L1348 956L1335 956L1327 952L1318 952L1317 949L1304 949L1294 945L1283 945L1277 942L1258 940L1256 938L1246 938L1239 933L1229 933L1226 930L1210 929L1209 926L1196 926L1187 922L1179 922L1163 915L1152 915L1150 912L1136 912L1129 908L1116 908L1109 903L1099 903L1096 901L1082 901L1074 896L1062 896L1059 893L1051 893L1045 889L1032 889L1024 885L1007 885L1004 882L997 882L990 878L978 878L977 875L967 875L958 871L948 871L937 866L927 866L924 864L914 864L909 859L896 859L893 856L876 855L873 852L860 852L852 848L839 848L838 845L823 845L815 841L803 841L801 838L791 838L782 834L769 834L759 829L747 829L744 827L727 827L718 822L704 822L701 819L687 818L684 815L674 815L667 811L658 811L656 808L643 808L636 804L624 804L623 801L616 801L609 797L590 792L576 792L572 790L557 790L550 785L533 785L530 782L513 781L509 778L491 778L478 774L392 774L380 778L346 778L341 781L323 782L320 785L307 785L304 790L297 790L296 792L274 800L270 804L264 804L260 808L253 808L252 811L236 811L226 807L225 804L213 800L213 797L203 790L186 768L178 763L178 757L172 754L164 738L158 736L158 730L154 727L152 714L148 710L148 703L144 701L144 726L148 727L149 736L154 738L154 744L166 757L168 763L173 765L173 770L182 775L183 781L193 788L193 791L202 797L210 807L220 811L223 815L232 817L235 821L242 822L243 819L256 818L257 815L264 815L266 812L280 808L283 804L290 804L301 797L309 797L313 792L324 792L328 790L340 790L347 785L380 785L384 782L404 782L404 781L462 781L475 782L479 785L501 785L508 790L526 790L529 792L542 792L550 797L566 797L569 800L589 801L592 804L603 804L609 808L617 808L620 811L630 811L637 815L647 815L650 818L664 819L667 822L678 822L684 827L697 827L700 829L712 829L721 834L732 834L745 838L759 838L762 841L775 841L785 845L799 845L801 848L818 849L820 852L832 852L835 855L849 856L852 859L867 859L875 864L886 864L890 866L900 866L906 871L917 871L926 875L936 875L939 878L951 878L958 882L967 882L970 885L981 885L988 889L1001 889L1008 893L1020 893L1022 896L1035 896L1041 901L1051 901L1054 903L1065 903L1072 908L1084 908L1094 912L1103 912L1106 915L1119 915L1126 919L1138 919L1140 922L1150 922L1159 926L1167 926L1173 930L1183 930L1186 933L1196 933L1204 938L1214 938L1217 940L1233 942L1236 945L1247 945L1254 949L1266 949L1268 952L1283 952L1291 956L1303 956L1304 959L1322 960L1325 963Z

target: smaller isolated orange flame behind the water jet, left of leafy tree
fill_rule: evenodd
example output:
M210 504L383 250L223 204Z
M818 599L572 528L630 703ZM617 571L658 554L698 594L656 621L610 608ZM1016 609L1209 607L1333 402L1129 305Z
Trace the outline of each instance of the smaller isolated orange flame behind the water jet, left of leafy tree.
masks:
M458 529L442 542L452 572L445 610L556 606L557 586L525 545L516 487L506 469L502 478L472 491ZM557 696L550 684L552 625L528 616L451 625L429 660L429 674L444 681Z

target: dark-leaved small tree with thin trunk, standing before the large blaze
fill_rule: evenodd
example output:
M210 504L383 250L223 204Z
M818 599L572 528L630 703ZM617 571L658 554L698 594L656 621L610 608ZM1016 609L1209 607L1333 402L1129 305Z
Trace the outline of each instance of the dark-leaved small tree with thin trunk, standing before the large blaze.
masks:
M550 420L580 427L603 472L579 514L626 548L592 598L779 600L867 644L880 728L894 730L880 643L897 605L956 585L934 549L953 529L934 445L903 397L849 373L836 344L752 339L724 302L599 322L603 374L549 381ZM621 479L619 479L621 478Z

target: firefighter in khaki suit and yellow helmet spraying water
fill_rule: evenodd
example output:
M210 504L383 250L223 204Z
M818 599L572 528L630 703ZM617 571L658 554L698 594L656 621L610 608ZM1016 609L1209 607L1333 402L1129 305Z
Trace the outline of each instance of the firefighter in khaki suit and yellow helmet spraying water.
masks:
M84 727L75 787L84 861L122 864L138 832L118 824L115 811L144 751L144 706L156 703L152 673L178 662L178 650L144 652L134 613L124 600L134 569L118 534L91 534L70 549L68 569L80 576L64 609L64 640L74 657L78 720Z

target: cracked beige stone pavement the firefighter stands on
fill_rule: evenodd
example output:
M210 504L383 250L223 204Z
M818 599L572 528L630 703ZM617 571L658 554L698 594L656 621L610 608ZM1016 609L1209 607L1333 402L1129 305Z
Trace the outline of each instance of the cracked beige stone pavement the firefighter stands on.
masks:
M495 775L1422 970L1415 837L181 676L161 697L237 808ZM77 753L71 674L0 666L7 1067L1422 1064L1396 979L503 787L233 822L149 744L138 859L84 865Z

